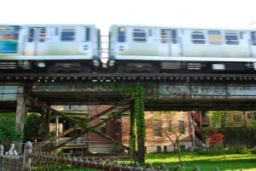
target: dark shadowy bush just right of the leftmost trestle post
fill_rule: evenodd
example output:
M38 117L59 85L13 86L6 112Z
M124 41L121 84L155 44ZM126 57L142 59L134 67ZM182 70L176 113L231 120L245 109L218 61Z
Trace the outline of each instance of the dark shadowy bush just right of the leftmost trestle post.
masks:
M39 128L42 123L40 114L29 113L26 116L26 121L24 125L24 141L35 141L40 137Z

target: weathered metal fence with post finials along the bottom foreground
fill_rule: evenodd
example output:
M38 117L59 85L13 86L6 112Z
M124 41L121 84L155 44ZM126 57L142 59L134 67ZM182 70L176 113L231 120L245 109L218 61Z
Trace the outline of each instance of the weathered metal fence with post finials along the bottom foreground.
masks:
M110 162L115 160L115 162ZM155 168L151 164L142 167L138 163L129 162L127 157L107 158L102 160L96 157L58 157L49 152L32 152L32 143L26 142L23 155L18 156L13 148L3 155L3 145L0 145L0 171L62 171L76 170L83 171L88 169L102 171L184 171L183 165L176 165L172 168L166 168L164 164ZM187 171L201 171L199 167L186 169ZM220 171L214 168L214 171Z

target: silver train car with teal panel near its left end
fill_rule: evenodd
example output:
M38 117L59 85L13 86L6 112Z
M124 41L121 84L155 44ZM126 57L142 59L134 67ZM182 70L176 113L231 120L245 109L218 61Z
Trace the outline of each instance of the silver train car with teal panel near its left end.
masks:
M94 25L0 25L0 71L84 71L101 66Z

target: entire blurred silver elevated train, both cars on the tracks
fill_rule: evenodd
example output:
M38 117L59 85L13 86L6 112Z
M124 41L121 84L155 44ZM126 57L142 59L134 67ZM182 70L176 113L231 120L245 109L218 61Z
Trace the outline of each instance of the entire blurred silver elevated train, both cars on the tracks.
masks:
M94 25L0 25L0 71L101 72ZM256 30L113 25L104 72L256 70Z

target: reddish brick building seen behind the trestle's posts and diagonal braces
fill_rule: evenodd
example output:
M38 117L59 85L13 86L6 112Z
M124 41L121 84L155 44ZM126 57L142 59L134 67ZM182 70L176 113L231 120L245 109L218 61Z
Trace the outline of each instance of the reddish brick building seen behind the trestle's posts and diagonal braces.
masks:
M84 113L84 118L95 117L110 107L111 106L109 105L90 105L87 106L86 109L84 108L82 113ZM69 110L72 109L69 107ZM96 119L90 122L90 127L96 126L95 132L85 134L79 137L77 140L74 140L74 143L70 142L61 149L72 149L72 151L81 151L82 149L82 151L86 151L88 146L89 151L92 153L124 151L122 145L129 146L130 113L127 111L122 113L122 116L116 116L109 119L114 112L115 111L111 111L106 115L96 117ZM78 112L75 114L78 115ZM166 130L166 128L171 128L170 126L172 126L172 129L175 129L174 132L177 132L178 135L180 134L179 140L182 151L192 150L193 147L201 145L201 127L207 125L208 123L205 117L201 117L199 112L166 112L166 114L170 114L168 116L172 116L172 122L170 121L170 118L169 120L164 118L160 123L156 122L157 118L155 117L159 116L159 114L160 111L145 112L145 148L147 152L168 152L174 150L172 141L167 138L166 134L164 134L164 130ZM62 128L67 128L65 127L65 123L60 124L64 124ZM51 129L52 131L55 130L55 128ZM65 130L61 131L63 132ZM175 140L175 134L169 135L172 140ZM66 138L61 138L60 141L62 139L65 140Z

